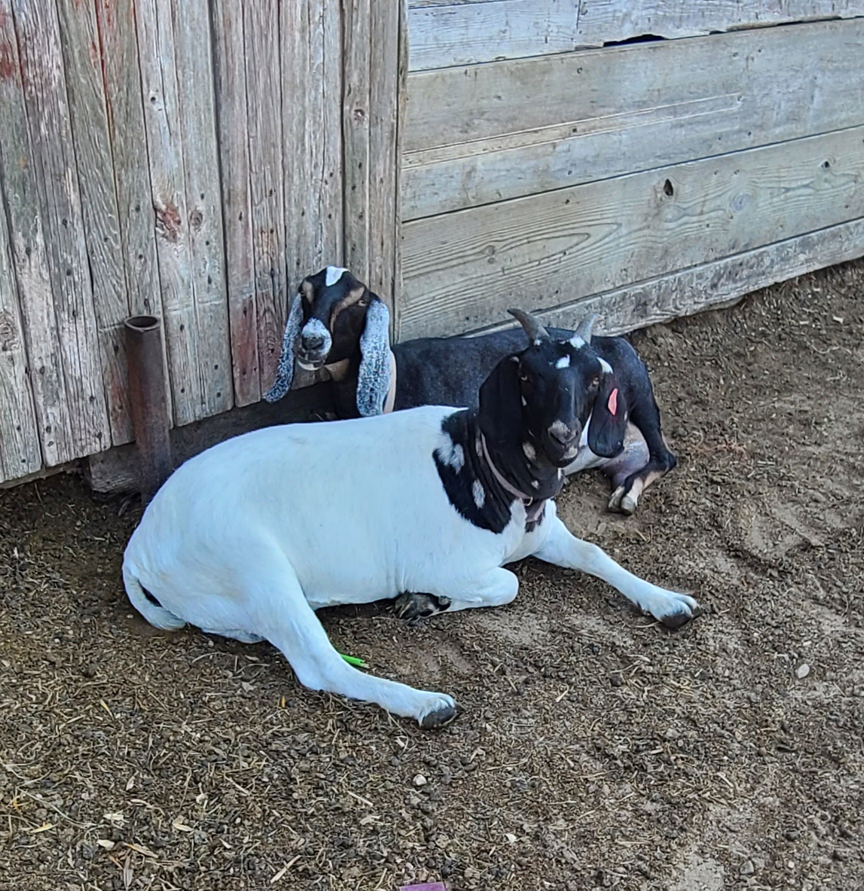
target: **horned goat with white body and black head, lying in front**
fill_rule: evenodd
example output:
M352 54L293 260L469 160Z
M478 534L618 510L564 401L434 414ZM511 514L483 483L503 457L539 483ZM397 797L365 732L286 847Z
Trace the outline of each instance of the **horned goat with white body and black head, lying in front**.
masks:
M581 337L558 341L514 315L529 346L495 364L477 408L259 429L175 470L126 546L135 609L159 628L266 639L306 687L424 727L452 718L453 699L348 665L315 609L499 606L518 591L504 564L534 555L599 576L666 625L686 622L697 601L633 576L556 516L550 499L611 372ZM609 420L601 454L620 436L620 416Z

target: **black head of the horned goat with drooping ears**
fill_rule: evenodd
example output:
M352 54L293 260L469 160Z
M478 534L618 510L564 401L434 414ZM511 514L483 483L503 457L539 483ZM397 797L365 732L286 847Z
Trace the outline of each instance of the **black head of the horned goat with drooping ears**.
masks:
M485 437L503 444L518 436L530 460L558 468L574 460L586 439L602 458L621 454L627 406L612 367L591 347L595 316L584 319L572 338L555 340L533 315L518 309L510 314L529 344L505 356L480 388Z

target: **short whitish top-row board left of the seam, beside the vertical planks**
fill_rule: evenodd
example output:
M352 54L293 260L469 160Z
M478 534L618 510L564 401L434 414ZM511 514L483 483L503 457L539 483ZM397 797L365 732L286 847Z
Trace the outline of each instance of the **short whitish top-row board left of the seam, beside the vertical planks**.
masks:
M576 46L578 10L578 0L409 0L409 69L566 53Z

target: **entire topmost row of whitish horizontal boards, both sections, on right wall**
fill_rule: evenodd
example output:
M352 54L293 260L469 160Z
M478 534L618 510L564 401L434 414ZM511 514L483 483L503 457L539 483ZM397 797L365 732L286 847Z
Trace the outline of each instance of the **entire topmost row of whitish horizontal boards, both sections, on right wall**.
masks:
M412 71L864 15L864 0L409 0Z

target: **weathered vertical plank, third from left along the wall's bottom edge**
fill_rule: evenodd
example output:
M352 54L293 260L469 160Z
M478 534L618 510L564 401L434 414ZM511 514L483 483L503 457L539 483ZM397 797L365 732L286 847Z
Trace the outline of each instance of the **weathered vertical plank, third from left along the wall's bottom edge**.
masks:
M57 9L53 3L12 0L21 82L35 161L39 208L48 248L53 315L59 334L71 444L75 458L110 442L102 388L93 289L78 194ZM48 315L50 310L43 307ZM29 338L41 339L40 319L27 319ZM43 352L39 350L39 352ZM37 369L38 373L38 369ZM54 430L47 430L53 442ZM49 443L45 442L46 459Z

